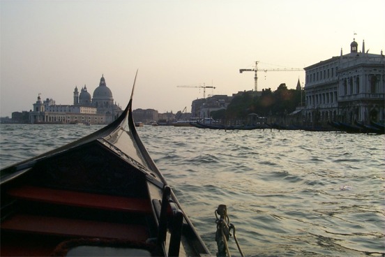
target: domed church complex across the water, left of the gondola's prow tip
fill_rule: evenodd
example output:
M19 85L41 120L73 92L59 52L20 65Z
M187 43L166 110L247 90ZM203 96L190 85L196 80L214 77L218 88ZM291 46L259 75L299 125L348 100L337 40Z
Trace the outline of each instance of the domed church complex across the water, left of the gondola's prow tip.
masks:
M42 101L39 94L29 113L29 121L44 124L110 124L121 112L102 75L92 98L85 85L80 92L75 87L73 105L56 105L52 98Z

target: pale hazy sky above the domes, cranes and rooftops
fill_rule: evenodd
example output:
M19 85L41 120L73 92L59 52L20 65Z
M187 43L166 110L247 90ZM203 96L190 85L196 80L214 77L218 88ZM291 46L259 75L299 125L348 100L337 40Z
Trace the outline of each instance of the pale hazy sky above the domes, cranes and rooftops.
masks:
M114 101L190 111L203 89L254 88L239 68L304 68L347 54L356 38L385 51L384 0L0 1L1 116L31 110L37 96L73 104L104 74ZM356 33L356 35L354 35ZM258 89L295 88L305 72L259 72Z

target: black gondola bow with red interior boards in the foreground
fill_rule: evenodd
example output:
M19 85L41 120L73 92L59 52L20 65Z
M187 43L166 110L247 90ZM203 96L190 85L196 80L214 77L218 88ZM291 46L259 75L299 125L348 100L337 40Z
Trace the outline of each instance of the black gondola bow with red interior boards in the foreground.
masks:
M1 170L1 256L205 256L132 115Z

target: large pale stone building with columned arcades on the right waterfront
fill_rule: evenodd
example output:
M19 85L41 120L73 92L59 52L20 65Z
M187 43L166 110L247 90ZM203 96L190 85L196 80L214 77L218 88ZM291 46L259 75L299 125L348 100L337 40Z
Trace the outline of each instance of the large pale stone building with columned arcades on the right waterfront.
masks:
M320 61L305 68L305 119L308 122L378 122L385 119L384 54L358 52Z

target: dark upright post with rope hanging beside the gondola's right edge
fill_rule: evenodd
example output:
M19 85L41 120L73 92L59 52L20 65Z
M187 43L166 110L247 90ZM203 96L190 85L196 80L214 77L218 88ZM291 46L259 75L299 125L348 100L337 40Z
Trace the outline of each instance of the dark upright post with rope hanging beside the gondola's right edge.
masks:
M229 236L233 235L234 240L236 242L236 247L238 247L238 250L239 250L239 254L241 254L241 256L244 257L241 247L239 247L238 240L236 239L235 226L232 223L230 223L229 216L227 216L226 205L218 205L218 209L216 210L215 214L216 214L216 224L217 224L217 230L216 230L216 242L218 246L217 256L231 257L227 241L229 241ZM232 234L230 233L231 230L233 230Z

